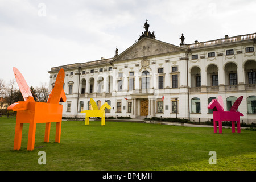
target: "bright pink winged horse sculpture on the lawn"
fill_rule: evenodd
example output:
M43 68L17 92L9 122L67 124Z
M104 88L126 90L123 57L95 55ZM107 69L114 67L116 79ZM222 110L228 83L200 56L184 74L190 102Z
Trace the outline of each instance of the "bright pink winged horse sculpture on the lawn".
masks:
M235 132L235 122L237 122L237 133L241 133L240 127L240 116L243 116L242 113L237 112L238 106L240 105L243 96L239 97L236 102L234 102L230 111L224 111L224 104L221 96L218 96L218 100L213 99L209 103L208 109L213 109L213 127L214 133L217 133L217 123L218 121L218 133L222 133L222 121L231 121L232 122L232 132Z

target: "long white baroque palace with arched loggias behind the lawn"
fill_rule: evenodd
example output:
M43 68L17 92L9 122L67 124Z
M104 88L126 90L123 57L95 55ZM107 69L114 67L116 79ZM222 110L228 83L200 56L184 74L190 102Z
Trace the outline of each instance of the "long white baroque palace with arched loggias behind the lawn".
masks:
M145 32L146 33L146 32ZM240 96L241 121L256 121L256 33L193 44L143 36L110 59L51 68L50 87L64 68L64 117L85 118L90 98L112 107L106 117L166 117L210 121L212 98L229 111Z

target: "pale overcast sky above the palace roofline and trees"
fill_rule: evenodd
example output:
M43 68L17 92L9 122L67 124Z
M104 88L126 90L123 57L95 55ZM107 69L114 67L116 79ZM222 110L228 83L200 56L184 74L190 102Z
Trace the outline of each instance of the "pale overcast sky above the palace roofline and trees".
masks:
M29 86L52 67L110 58L144 31L179 46L256 32L255 0L0 0L0 79L19 69Z

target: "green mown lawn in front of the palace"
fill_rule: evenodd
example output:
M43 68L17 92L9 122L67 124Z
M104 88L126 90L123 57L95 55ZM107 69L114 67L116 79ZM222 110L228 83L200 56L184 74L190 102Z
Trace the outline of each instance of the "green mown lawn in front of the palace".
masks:
M256 170L256 131L154 125L131 122L63 121L61 141L49 143L45 124L36 126L35 150L27 151L28 124L23 125L22 148L13 151L15 118L0 118L0 170ZM46 165L39 165L39 151ZM209 164L215 151L217 164Z

